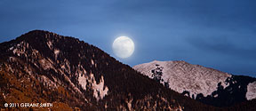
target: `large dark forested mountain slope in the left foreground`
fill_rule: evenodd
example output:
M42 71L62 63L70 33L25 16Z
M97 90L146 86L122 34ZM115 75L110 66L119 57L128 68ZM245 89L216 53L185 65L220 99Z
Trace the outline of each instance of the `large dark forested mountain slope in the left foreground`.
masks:
M42 30L0 44L0 75L2 108L4 103L22 102L53 107L12 109L210 108L164 88L91 44Z

